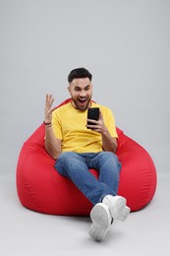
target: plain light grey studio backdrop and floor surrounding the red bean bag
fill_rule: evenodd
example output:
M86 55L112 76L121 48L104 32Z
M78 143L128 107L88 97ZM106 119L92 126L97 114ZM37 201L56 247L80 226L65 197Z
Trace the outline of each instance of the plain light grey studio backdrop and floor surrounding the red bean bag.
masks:
M0 0L2 255L168 255L169 45L168 0ZM69 97L68 73L80 66L93 75L93 99L113 110L158 173L153 202L115 224L102 245L88 240L88 219L22 208L15 185L18 156L43 120L45 95L53 94L54 105Z

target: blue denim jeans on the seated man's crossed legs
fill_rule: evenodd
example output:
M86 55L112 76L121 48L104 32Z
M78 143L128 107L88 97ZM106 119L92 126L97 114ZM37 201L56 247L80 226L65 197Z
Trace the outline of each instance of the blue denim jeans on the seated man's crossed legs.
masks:
M56 160L55 168L61 175L71 179L93 205L108 194L117 194L121 163L111 152L64 152ZM98 179L89 172L89 168L98 171Z

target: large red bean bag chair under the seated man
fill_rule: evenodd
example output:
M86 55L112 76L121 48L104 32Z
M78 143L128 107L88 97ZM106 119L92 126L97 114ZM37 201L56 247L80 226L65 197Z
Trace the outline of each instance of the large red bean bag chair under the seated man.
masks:
M127 199L131 211L138 211L154 196L155 166L142 146L119 128L117 133L117 156L122 162L118 194ZM91 203L72 181L55 170L55 160L50 158L44 148L44 134L45 127L42 123L24 143L19 156L16 181L21 204L43 214L88 216ZM89 171L97 178L96 170Z

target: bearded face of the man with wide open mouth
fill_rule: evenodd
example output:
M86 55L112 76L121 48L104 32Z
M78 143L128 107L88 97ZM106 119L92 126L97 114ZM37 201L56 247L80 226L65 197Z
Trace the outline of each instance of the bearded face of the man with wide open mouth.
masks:
M74 107L85 111L92 96L92 85L88 78L77 78L69 84L69 93L72 96Z

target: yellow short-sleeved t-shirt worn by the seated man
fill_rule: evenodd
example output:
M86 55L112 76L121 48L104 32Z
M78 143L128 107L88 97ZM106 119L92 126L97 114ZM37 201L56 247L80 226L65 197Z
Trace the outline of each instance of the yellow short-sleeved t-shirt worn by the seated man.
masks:
M104 123L112 137L118 137L112 111L92 102L91 107L99 107ZM97 153L103 151L101 135L85 127L87 110L81 111L66 103L52 112L52 127L56 138L62 140L62 152Z

